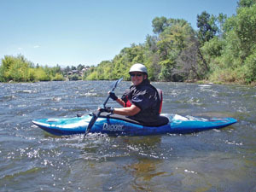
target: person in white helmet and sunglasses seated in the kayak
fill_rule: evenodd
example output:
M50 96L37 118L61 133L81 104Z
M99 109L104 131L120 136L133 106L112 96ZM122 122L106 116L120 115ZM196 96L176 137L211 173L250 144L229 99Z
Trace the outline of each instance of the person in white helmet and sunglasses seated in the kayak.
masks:
M119 98L109 92L110 98L118 102L123 108L99 108L101 112L108 112L128 116L139 122L149 123L159 119L161 98L158 90L148 80L148 69L141 63L131 66L132 85Z

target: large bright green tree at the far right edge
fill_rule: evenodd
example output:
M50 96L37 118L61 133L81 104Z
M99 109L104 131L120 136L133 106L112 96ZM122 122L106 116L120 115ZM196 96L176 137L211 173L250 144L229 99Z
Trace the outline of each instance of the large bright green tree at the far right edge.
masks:
M212 38L201 47L211 64L210 79L241 83L255 81L255 15L255 1L239 1L236 15L224 22L224 35Z

